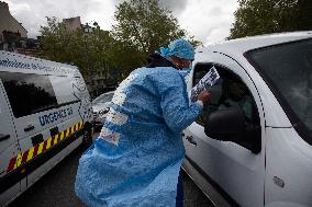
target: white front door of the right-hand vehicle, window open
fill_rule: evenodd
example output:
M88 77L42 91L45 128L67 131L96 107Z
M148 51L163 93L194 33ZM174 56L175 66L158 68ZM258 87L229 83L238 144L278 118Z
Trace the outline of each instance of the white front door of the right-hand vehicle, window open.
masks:
M260 119L264 120L259 116L263 114L259 96L249 77L234 60L215 53L209 54L209 57L211 64L196 65L193 84L212 66L216 67L221 80L211 89L209 105L204 106L197 122L185 130L187 159L196 163L199 172L216 183L223 189L221 193L232 198L229 202L239 206L264 206L265 157L264 150L260 150L260 136L264 134L256 130L260 129ZM245 118L244 126L248 126L245 128L248 134L242 137L239 145L213 139L204 133L207 116L230 106L241 110Z

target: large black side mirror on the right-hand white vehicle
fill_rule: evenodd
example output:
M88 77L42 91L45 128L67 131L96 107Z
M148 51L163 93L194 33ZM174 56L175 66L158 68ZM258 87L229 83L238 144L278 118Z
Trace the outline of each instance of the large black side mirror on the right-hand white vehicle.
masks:
M239 143L244 137L244 115L236 106L208 115L204 133L212 139Z

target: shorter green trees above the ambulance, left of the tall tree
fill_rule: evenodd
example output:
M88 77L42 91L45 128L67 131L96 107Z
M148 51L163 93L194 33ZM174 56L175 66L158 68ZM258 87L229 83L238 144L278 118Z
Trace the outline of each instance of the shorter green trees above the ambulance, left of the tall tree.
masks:
M101 70L108 56L112 37L105 31L94 27L89 34L81 28L69 31L56 18L47 18L47 26L41 27L42 47L47 59L76 65L82 74Z

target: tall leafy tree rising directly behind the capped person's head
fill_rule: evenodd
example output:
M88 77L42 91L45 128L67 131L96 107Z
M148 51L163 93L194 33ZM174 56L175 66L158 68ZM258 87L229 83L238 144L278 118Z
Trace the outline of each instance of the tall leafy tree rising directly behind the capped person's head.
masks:
M124 1L116 7L114 18L113 50L119 54L120 66L127 72L144 65L147 55L159 47L178 37L187 37L171 11L160 8L158 0Z

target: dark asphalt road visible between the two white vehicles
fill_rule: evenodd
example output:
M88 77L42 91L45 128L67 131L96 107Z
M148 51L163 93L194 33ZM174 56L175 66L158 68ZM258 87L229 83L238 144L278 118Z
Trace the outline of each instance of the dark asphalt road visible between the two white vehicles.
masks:
M85 207L74 193L76 171L82 152L81 148L76 149L9 207ZM213 206L186 174L183 189L185 207Z

